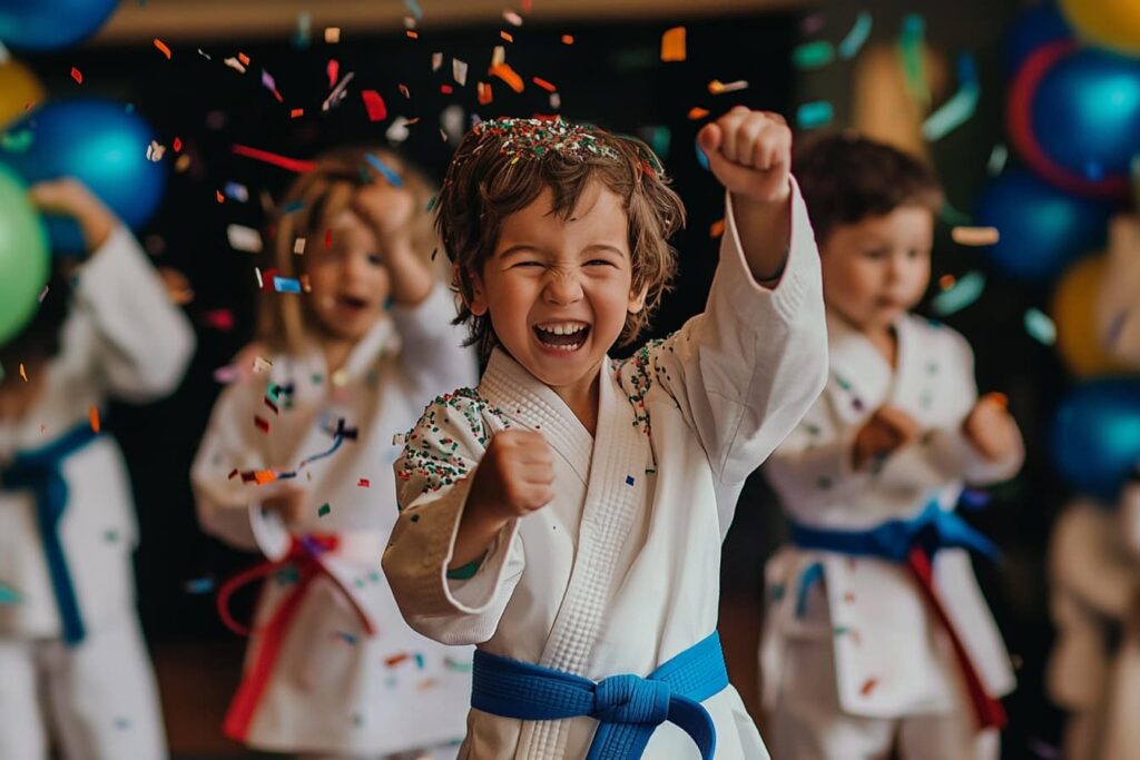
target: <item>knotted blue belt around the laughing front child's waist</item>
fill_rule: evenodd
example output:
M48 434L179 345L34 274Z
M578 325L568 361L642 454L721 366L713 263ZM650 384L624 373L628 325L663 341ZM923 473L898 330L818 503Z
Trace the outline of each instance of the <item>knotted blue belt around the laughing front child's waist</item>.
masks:
M659 725L669 721L692 737L709 760L716 727L701 702L728 686L714 632L652 673L611 676L598 683L561 670L475 652L471 706L502 718L598 721L586 760L636 760Z

